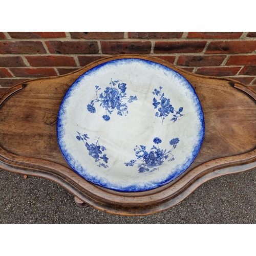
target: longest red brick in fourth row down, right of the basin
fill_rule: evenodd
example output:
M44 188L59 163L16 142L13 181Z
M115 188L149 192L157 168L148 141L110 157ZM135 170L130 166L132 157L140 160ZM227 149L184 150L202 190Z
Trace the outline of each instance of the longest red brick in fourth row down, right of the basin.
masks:
M234 76L241 67L199 68L196 73L207 76Z

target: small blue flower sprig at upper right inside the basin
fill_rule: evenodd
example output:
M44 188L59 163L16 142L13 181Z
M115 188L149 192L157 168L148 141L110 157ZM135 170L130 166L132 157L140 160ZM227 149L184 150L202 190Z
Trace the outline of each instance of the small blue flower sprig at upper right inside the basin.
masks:
M160 98L157 100L155 97L153 99L153 105L154 109L158 108L158 112L156 112L156 117L161 117L162 124L165 117L167 117L170 113L173 113L173 118L170 119L170 121L176 122L177 119L181 116L184 116L181 114L183 111L183 108L179 108L178 111L176 111L173 107L173 105L170 104L170 99L167 99L164 97L164 93L161 94L162 87L159 87L159 90L155 89L154 92L152 92L156 96L160 96Z

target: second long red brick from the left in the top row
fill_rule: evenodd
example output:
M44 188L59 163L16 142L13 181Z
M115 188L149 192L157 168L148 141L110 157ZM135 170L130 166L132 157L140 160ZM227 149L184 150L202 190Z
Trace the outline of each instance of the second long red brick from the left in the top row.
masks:
M123 32L70 32L71 38L77 39L122 39Z

